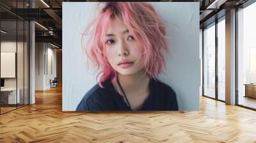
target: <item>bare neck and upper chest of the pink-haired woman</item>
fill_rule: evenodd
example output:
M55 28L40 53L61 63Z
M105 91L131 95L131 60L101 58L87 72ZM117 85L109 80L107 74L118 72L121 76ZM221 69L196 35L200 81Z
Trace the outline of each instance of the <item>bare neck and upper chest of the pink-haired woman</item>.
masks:
M149 81L150 78L145 74L145 70L134 75L120 75L118 74L118 80L125 92L125 94L148 94L149 93ZM135 93L135 94L134 94Z

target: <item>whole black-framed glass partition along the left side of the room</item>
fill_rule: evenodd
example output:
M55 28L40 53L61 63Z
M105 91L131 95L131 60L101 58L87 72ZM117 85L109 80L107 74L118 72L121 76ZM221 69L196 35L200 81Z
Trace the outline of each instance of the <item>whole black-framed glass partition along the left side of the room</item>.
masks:
M10 11L28 8L28 1L0 4L9 5ZM0 8L0 114L29 103L29 22L10 11Z

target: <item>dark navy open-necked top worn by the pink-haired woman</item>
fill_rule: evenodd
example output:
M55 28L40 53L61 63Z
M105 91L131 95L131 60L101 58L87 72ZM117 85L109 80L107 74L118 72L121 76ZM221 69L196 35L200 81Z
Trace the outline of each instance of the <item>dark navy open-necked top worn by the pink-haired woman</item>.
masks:
M111 80L103 82L102 86L93 86L84 95L76 110L132 110L115 90ZM139 110L178 110L176 94L170 86L150 79L149 87L150 94Z

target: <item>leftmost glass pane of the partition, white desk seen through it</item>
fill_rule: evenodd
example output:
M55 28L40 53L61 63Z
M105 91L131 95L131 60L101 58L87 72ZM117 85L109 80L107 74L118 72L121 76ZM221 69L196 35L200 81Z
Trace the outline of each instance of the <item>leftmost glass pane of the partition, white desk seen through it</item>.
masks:
M4 31L4 32L3 32ZM17 21L1 21L1 113L17 108ZM18 94L19 95L19 94Z

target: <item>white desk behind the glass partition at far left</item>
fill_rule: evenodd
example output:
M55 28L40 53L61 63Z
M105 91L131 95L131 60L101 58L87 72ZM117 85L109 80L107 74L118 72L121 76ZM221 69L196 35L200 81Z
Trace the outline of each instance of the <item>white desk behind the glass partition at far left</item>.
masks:
M20 89L17 89L18 94L16 98L16 88L4 88L1 89L1 100L6 104L20 103ZM8 102L7 102L8 101Z

